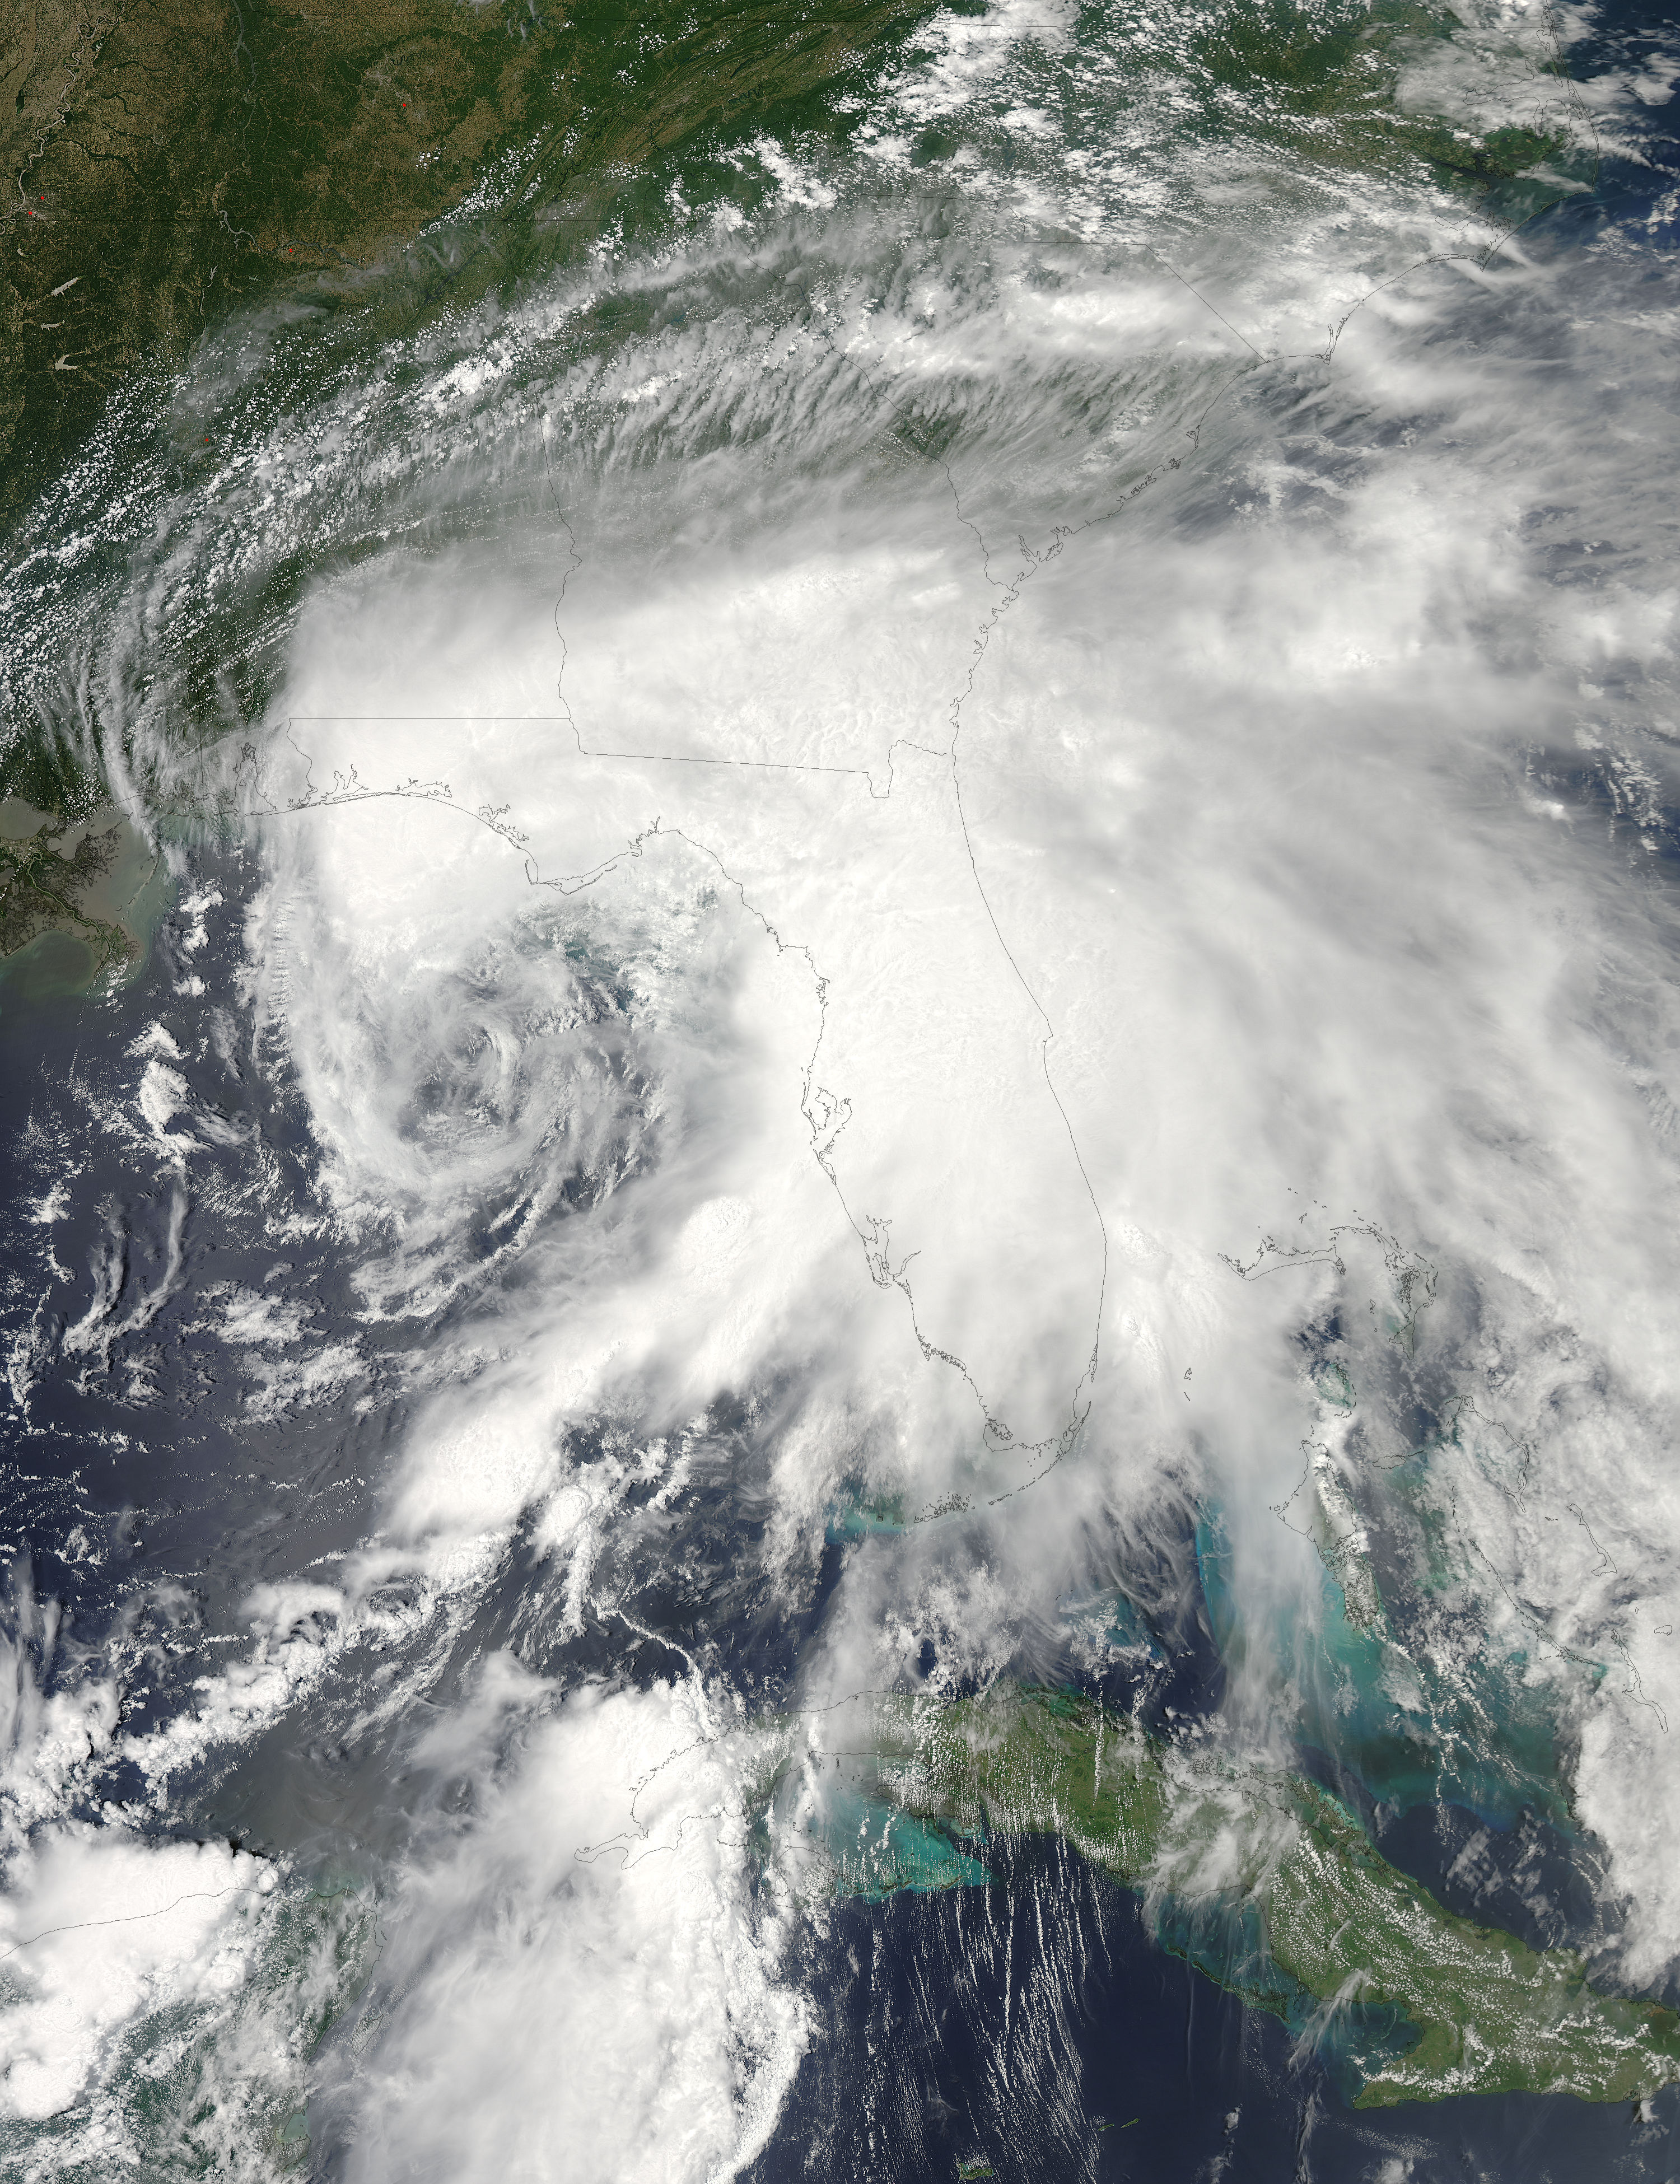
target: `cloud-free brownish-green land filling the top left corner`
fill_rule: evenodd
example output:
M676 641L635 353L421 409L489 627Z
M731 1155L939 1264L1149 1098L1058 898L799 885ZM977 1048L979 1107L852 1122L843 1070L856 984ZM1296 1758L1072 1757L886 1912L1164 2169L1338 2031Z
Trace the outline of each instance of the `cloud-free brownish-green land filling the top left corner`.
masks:
M22 0L0 37L0 524L149 358L389 264L492 166L518 271L579 183L776 122L928 0ZM561 238L564 240L564 238ZM422 249L433 286L459 275ZM459 284L457 290L459 293ZM424 301L424 299L422 299Z

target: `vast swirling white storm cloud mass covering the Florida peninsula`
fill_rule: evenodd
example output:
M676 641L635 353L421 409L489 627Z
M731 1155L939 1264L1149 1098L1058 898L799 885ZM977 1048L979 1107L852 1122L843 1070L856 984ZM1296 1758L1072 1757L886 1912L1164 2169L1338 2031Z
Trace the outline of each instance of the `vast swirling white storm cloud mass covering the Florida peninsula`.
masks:
M1405 98L1547 120L1540 35L1466 15ZM74 1682L20 1607L20 2175L177 2173L166 2053L229 2173L747 2173L824 2038L767 1771L861 1690L1108 1673L1090 1603L1212 1562L1208 1736L1357 1771L1365 1634L1453 1795L1590 1845L1604 1977L1673 1977L1671 269L1088 142L1097 76L1057 11L942 20L745 225L400 380L236 330L177 389L242 454L81 673L225 893L74 1094L149 1286L111 1214L11 1385L144 1409L190 1319L354 1492L201 1629L138 1577ZM184 749L138 664L205 601L269 697ZM284 1144L216 1090L264 1070Z

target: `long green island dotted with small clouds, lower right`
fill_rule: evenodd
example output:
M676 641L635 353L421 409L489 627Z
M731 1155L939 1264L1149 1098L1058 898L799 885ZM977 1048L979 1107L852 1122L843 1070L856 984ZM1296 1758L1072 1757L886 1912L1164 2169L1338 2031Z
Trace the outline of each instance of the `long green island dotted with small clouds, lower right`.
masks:
M1158 1904L1169 1948L1330 2046L1354 2105L1621 2101L1680 2079L1680 2018L1569 1950L1455 1918L1313 1782L1164 1745L1057 1693L880 1706L878 1793L983 1843L1057 1835ZM1337 2025L1337 2018L1341 2022Z

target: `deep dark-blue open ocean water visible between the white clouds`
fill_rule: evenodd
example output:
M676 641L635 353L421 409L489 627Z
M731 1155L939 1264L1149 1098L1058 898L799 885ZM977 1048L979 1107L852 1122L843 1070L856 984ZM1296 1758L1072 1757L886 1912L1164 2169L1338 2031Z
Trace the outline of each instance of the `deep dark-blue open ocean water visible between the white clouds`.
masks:
M1580 68L1636 55L1671 28L1606 7ZM1542 214L1531 247L1569 251L1617 223L1638 227L1643 245L1671 245L1671 111L1652 109L1649 164L1606 159L1597 192ZM1586 762L1566 786L1586 808L1608 795ZM1671 828L1663 858L1671 876ZM284 1057L242 1029L238 913L256 858L199 845L188 867L192 887L225 895L203 946L188 946L192 922L173 911L146 963L109 998L44 989L39 957L0 976L0 1299L26 1382L26 1404L0 1426L0 1544L13 1601L31 1592L61 1607L50 1638L24 1625L46 1690L96 1673L111 1649L129 1662L144 1655L146 1673L127 1679L131 1730L190 1708L190 1679L238 1631L253 1586L332 1564L365 1538L376 1485L415 1415L415 1354L450 1332L448 1310L378 1326L356 1310L356 1269L321 1219L319 1155ZM177 992L186 978L205 985L190 1005ZM205 1037L216 1011L227 1024L221 1044ZM192 1125L190 1182L135 1123L135 1042L153 1026L179 1051L199 1116L221 1125ZM55 1195L52 1221L35 1219ZM356 1372L308 1406L256 1415L238 1358L205 1319L216 1284L306 1304L308 1343L354 1339ZM66 1330L100 1295L100 1324L68 1352ZM786 1704L845 1555L874 1520L835 1520L797 1599L765 1581L754 1548L769 1522L773 1431L773 1406L769 1422L727 1404L706 1420L682 1496L605 1551L601 1581L618 1621L592 1616L572 1629L544 1557L518 1540L433 1701L448 1706L474 1660L509 1647L561 1684L605 1677L636 1688L699 1658L754 1704ZM588 1448L579 1461L590 1461ZM1042 1651L1020 1673L1081 1677L1151 1728L1212 1714L1234 1610L1204 1544L1191 1520L1167 1540L1147 1614L1116 1597L1129 1651L1103 1677ZM1451 1909L1534 1946L1601 1939L1614 1907L1584 1872L1584 1841L1551 1782L1562 1760L1547 1723L1512 1717L1486 1771L1442 1780L1381 1697L1359 1636L1335 1612L1330 1629L1357 1706L1304 1725L1300 1767ZM920 1664L924 1675L933 1666ZM341 1736L347 1712L323 1706L205 1762L146 1826L159 1837L227 1835L321 1865L352 1845L374 1867L400 1845L402 1791L387 1782L389 1743ZM135 1789L120 1765L98 1787L118 1800ZM1608 2184L1680 2173L1676 2088L1641 2112L1562 2097L1359 2112L1333 2062L1298 2053L1282 2022L1162 1948L1138 1900L1077 1854L1025 1841L987 1845L985 1861L987 1885L841 1900L811 1924L797 1963L811 2044L747 2171L756 2184L953 2173L1038 2184ZM341 2151L323 2147L312 2173L339 2167Z

